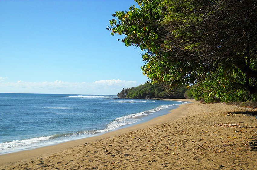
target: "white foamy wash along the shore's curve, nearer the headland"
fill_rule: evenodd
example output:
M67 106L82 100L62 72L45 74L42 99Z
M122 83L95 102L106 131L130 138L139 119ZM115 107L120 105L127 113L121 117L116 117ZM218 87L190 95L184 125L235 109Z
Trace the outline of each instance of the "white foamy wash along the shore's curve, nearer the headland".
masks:
M121 127L121 126L124 126L124 125L127 125L127 124L136 123L136 122L141 120L141 119L139 119L141 116L153 114L154 112L157 112L157 111L159 111L161 109L166 109L166 108L168 108L170 106L174 106L174 105L178 105L178 104L161 105L159 107L156 107L154 109L147 110L147 111L144 111L144 112L134 113L134 114L126 115L126 116L123 116L123 117L118 117L114 121L109 123L107 125L106 129L98 130L96 132L112 131L112 130L115 130L115 129Z

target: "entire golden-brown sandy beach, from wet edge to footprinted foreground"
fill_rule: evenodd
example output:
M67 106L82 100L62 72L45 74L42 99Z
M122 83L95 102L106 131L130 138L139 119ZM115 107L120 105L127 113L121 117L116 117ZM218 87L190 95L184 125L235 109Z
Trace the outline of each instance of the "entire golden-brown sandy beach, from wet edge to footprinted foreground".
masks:
M0 155L0 169L257 169L257 109L191 102L101 136Z

